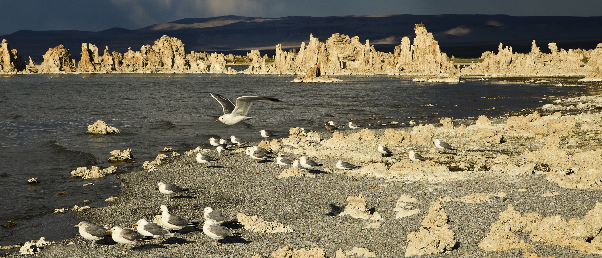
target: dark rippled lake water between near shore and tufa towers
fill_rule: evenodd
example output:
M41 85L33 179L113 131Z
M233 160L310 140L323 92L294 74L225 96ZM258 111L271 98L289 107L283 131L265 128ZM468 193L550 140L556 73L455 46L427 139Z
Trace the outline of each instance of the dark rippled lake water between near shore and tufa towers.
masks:
M206 74L0 77L0 223L21 223L0 227L0 245L74 235L73 225L79 222L72 218L75 213L52 215L54 209L82 206L82 200L90 200L85 205L102 206L107 204L105 198L119 190L113 176L70 179L70 171L77 167L116 165L118 173L126 173L153 160L164 147L183 153L206 144L210 137L236 135L259 141L261 129L285 137L290 127L325 131L323 125L329 120L347 123L351 118L366 125L410 119L432 123L441 117L481 114L498 117L542 106L560 96L588 93L580 87L553 85L417 83L403 76L337 76L344 81L335 84L288 82L293 78ZM214 122L222 108L210 92L232 100L256 94L284 102L255 102L249 112L255 119L226 126ZM117 127L121 134L85 134L96 120ZM132 149L137 163L107 162L112 150L125 149ZM42 183L28 185L31 177ZM82 186L85 183L94 185ZM68 194L54 196L63 191Z

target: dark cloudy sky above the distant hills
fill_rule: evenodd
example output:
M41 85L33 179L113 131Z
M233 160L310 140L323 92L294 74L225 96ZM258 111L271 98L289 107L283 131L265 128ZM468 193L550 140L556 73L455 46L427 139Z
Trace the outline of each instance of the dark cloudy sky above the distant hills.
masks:
M602 16L602 0L0 0L0 34L137 29L184 18L365 14Z

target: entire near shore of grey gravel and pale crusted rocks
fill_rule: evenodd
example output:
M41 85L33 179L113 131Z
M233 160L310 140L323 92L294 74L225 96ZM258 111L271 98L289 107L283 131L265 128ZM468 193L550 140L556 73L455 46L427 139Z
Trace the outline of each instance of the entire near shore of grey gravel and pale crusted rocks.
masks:
M154 170L117 174L119 198L76 218L131 227L140 218L153 220L166 204L170 212L202 223L200 211L211 206L231 218L257 215L293 229L258 233L235 227L244 238L224 239L217 247L200 229L189 229L138 244L132 257L590 257L602 253L601 100L564 99L554 108L562 103L573 109L497 120L442 118L414 127L308 136L292 128L288 138L253 143L324 164L293 176L283 176L287 167L258 163L235 148L221 157L207 151L219 161L203 168L194 160L194 153L205 151L198 148ZM439 155L436 138L458 151ZM394 155L382 158L375 151L379 143ZM409 161L409 150L428 160ZM338 159L361 168L338 170ZM166 201L157 182L190 191ZM362 212L368 220L357 215ZM338 216L346 213L358 218ZM120 251L117 244L90 250L88 241L73 236L36 256L123 257Z

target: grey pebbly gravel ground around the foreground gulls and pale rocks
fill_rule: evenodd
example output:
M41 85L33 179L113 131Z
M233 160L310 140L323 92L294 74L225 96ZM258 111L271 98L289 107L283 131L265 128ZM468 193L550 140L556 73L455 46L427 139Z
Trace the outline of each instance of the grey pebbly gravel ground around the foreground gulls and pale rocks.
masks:
M467 121L470 123L470 121ZM458 123L458 121L454 121ZM411 128L405 128L406 131ZM344 131L344 134L357 130ZM376 135L383 134L377 130ZM321 132L327 139L330 134ZM246 144L247 146L258 143ZM175 236L155 239L152 244L143 242L135 245L129 254L121 254L122 245L100 242L94 250L90 241L76 235L44 248L36 257L252 257L256 254L270 257L275 250L292 245L293 249L320 247L326 257L335 257L337 250L352 250L353 247L368 248L376 257L404 257L408 241L406 236L420 231L421 223L432 201L445 196L461 198L475 193L504 192L505 197L492 197L484 203L447 201L442 203L448 216L447 227L455 233L456 246L442 254L428 257L523 257L526 251L542 257L594 257L569 247L533 243L528 233L515 233L532 244L528 250L485 251L477 244L486 237L492 223L499 220L498 213L512 204L521 213L536 212L542 217L560 215L583 218L597 201L601 192L592 189L566 189L545 179L544 174L519 176L479 174L464 180L447 182L412 182L388 180L385 177L358 176L329 173L336 171L338 159L311 158L320 164L311 176L291 176L277 179L287 167L274 161L255 161L244 152L231 148L219 156L214 150L206 154L219 158L206 168L197 163L194 153L181 155L160 165L155 171L140 170L117 174L121 182L117 200L104 207L84 210L76 218L90 223L107 226L132 227L141 218L152 221L159 206L166 204L170 213L190 221L199 222L196 229L182 230ZM459 152L462 152L461 148ZM436 153L421 152L423 156L436 157ZM222 153L224 154L224 153ZM299 155L290 154L293 158ZM448 154L445 154L448 155ZM444 157L444 156L443 156ZM396 159L407 159L405 153L394 153ZM364 165L364 164L356 164ZM390 166L391 164L388 164ZM190 191L179 192L166 201L155 185L158 182L174 183ZM526 189L526 190L525 190ZM542 197L546 192L557 195ZM350 195L362 194L371 212L382 215L380 227L362 229L373 220L362 220L349 216L337 216L347 204ZM413 209L420 212L404 218L396 218L393 211L400 195L417 198ZM253 233L240 227L233 230L243 234L242 239L223 239L217 247L214 240L201 230L201 210L206 206L220 210L231 218L237 213L258 215L265 221L276 221L291 226L292 233ZM70 244L72 242L73 244ZM8 257L21 257L9 253Z

